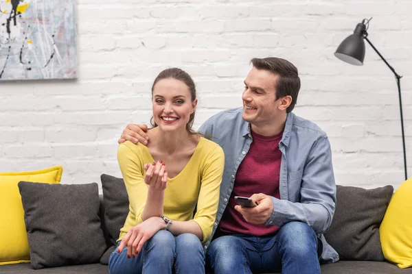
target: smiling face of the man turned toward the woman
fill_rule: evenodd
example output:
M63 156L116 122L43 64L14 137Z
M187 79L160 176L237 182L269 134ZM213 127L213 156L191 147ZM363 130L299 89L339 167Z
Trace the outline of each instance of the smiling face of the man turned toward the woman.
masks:
M279 110L281 99L276 100L275 86L278 77L271 71L255 67L251 69L244 80L242 94L244 121L255 126L271 124L282 112Z

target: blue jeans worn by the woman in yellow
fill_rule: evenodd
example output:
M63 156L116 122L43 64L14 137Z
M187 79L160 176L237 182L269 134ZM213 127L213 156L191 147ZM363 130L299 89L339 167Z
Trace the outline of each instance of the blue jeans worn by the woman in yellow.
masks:
M120 242L119 242L120 244ZM148 240L136 258L127 258L127 247L117 253L119 244L108 259L110 274L205 273L205 253L194 234L174 236L159 230Z

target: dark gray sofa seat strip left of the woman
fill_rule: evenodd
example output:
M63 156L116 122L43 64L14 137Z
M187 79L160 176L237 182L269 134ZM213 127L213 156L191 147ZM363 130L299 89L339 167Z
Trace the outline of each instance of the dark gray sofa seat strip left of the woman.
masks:
M61 266L50 269L32 268L30 263L25 264L9 264L0 266L1 274L107 274L108 266L103 264L83 264L76 266Z

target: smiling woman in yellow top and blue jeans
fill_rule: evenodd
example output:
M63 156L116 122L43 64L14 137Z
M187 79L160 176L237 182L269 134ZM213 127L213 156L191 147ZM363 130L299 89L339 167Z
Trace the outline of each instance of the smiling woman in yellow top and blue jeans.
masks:
M211 235L225 160L192 130L196 104L190 75L162 71L152 86L150 142L119 145L130 206L111 274L205 273L202 242Z

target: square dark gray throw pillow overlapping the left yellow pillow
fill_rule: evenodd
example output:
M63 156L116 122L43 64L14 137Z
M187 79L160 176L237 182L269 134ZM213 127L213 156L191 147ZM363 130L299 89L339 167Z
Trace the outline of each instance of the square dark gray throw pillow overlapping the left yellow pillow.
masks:
M98 184L19 182L34 269L99 262L106 250Z

